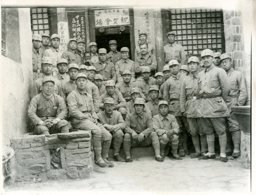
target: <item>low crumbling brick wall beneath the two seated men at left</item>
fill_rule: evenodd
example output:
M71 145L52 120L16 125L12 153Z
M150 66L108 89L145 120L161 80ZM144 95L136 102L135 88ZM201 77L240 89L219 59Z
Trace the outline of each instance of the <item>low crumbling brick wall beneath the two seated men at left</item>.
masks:
M91 176L94 163L90 131L27 135L10 141L15 150L16 179L58 180Z

